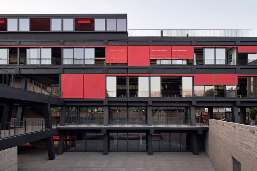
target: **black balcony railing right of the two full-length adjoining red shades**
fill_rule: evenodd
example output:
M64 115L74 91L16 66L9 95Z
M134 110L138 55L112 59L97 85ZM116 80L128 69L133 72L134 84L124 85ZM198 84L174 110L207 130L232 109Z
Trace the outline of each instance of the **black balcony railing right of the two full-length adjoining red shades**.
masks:
M195 91L195 92L173 92L173 91L159 91L159 92L139 92L129 91L128 97L125 91L123 92L107 92L106 98L257 98L257 92L241 92L241 91Z

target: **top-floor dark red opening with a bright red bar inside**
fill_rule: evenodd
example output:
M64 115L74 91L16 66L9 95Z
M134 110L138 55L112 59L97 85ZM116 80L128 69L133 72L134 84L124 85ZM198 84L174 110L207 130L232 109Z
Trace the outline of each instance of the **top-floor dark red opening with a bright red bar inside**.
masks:
M94 18L75 18L75 31L94 31Z

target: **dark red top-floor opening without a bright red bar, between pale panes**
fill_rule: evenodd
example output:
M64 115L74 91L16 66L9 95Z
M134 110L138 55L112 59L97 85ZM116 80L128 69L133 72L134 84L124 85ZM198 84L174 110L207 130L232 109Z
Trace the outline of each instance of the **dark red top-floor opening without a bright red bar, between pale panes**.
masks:
M30 31L50 31L50 18L30 18Z

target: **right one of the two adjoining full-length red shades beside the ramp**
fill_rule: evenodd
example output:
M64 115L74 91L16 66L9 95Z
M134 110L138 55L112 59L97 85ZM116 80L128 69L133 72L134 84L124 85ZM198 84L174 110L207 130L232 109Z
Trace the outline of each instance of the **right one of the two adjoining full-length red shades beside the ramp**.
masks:
M84 98L105 98L105 74L84 74Z

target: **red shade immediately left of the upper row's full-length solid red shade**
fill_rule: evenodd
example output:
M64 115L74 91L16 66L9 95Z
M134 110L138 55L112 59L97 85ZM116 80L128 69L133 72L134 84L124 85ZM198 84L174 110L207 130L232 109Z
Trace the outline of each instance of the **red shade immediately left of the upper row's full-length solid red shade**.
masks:
M106 63L127 64L128 46L106 46Z

